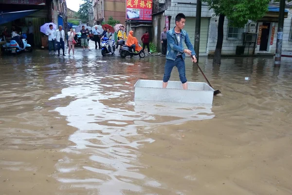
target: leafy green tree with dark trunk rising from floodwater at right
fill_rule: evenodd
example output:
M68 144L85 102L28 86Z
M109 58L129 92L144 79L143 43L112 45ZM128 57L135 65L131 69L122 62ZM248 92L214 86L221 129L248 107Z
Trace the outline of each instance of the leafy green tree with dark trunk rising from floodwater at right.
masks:
M256 21L262 18L268 11L270 0L202 0L206 2L209 9L219 16L218 38L213 63L221 63L221 49L223 43L223 25L227 17L229 25L243 27L248 20Z

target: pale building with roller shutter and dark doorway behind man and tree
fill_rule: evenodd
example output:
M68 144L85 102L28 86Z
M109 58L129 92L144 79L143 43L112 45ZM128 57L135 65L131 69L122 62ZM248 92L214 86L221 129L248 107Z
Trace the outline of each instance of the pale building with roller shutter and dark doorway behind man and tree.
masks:
M192 43L195 42L197 0L172 0L171 6L164 11L164 16L169 17L169 27L175 27L175 16L183 13L186 16L184 30L187 31ZM286 3L283 29L282 51L292 50L292 6ZM279 17L279 3L271 2L266 15L257 20L249 21L243 28L230 26L230 21L225 17L223 28L223 55L235 54L271 54L275 53L277 28ZM160 17L155 20L164 22ZM157 21L154 21L157 23ZM201 33L200 55L213 55L216 49L218 37L219 17L213 10L209 10L207 4L202 3L201 8ZM154 27L155 28L155 25ZM156 35L154 29L154 35Z

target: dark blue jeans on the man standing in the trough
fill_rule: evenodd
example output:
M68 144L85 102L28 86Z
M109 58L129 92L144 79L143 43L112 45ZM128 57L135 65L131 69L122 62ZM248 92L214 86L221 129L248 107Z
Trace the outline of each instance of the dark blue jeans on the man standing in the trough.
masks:
M182 56L177 56L177 58L174 61L171 59L166 59L165 66L164 66L163 81L167 82L169 80L171 71L173 67L175 66L178 68L181 82L186 83L187 80L185 77L185 65L184 65L184 60Z

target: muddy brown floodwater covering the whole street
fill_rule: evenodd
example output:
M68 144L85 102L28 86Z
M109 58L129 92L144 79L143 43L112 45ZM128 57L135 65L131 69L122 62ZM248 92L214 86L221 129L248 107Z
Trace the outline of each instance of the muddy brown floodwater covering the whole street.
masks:
M201 57L222 92L212 107L136 104L133 85L162 80L164 62L2 56L0 195L291 195L291 64ZM205 82L190 59L186 77Z

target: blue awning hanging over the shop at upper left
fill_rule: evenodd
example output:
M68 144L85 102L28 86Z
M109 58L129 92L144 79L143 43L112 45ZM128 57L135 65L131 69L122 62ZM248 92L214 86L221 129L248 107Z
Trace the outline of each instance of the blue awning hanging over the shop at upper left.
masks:
M18 12L0 11L0 25L13 21L13 20L23 18L27 15L35 13L36 11L38 11L38 9L24 10L24 11L18 11Z

